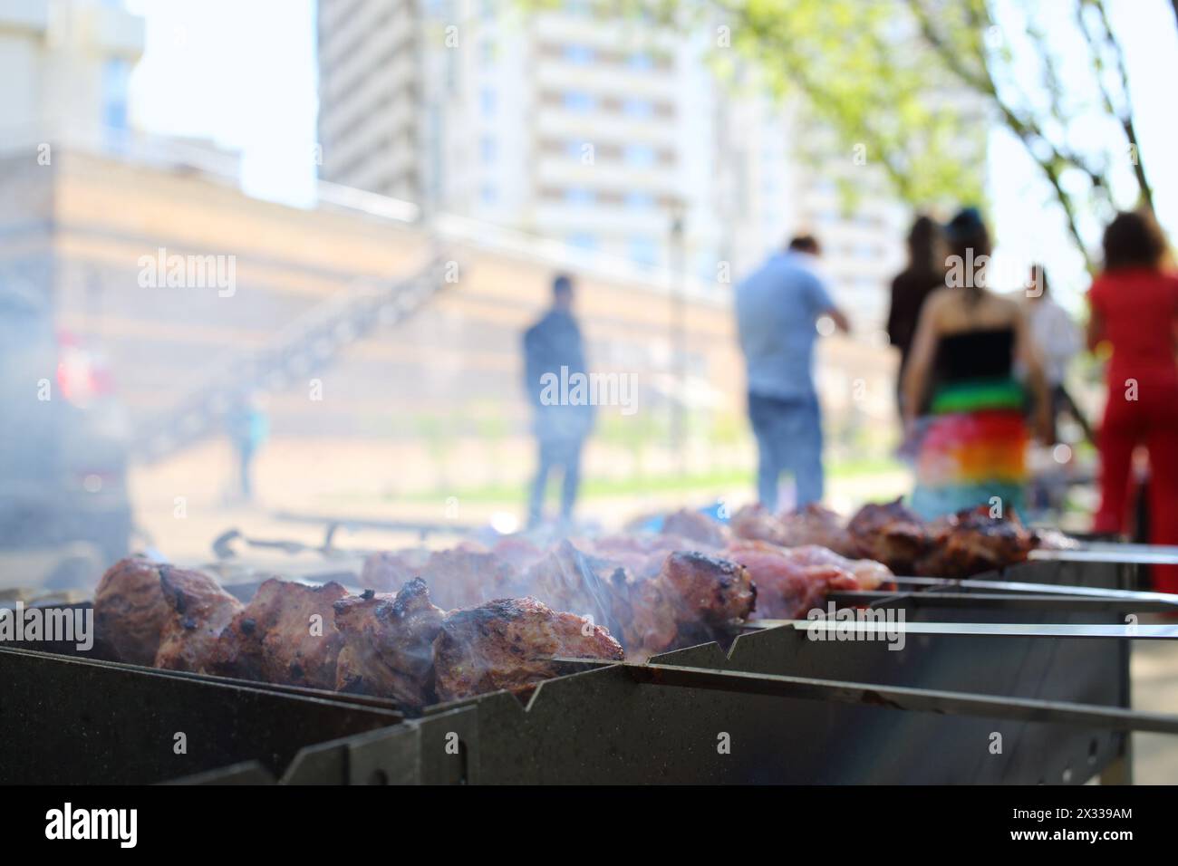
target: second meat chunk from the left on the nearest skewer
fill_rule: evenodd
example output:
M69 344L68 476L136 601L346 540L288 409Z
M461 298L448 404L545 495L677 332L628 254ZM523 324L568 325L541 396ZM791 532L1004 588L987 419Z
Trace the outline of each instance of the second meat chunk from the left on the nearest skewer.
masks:
M159 583L168 606L155 667L210 672L217 642L241 602L206 574L159 567Z

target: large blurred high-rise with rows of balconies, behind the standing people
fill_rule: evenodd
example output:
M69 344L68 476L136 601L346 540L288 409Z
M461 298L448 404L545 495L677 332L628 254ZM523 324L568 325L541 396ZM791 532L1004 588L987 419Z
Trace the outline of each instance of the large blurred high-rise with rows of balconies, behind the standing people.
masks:
M682 266L717 292L809 230L836 293L879 328L906 209L882 193L845 213L829 174L800 164L790 113L713 72L706 28L590 7L320 0L322 177Z

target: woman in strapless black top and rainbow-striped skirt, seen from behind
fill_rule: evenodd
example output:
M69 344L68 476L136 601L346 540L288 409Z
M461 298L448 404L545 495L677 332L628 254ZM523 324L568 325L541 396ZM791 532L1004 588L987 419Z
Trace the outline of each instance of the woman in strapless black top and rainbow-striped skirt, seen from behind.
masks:
M1041 436L1048 414L1026 312L986 287L990 233L978 210L960 211L946 240L946 285L925 302L904 382L905 430L918 454L912 508L926 520L979 504L1021 508L1027 386Z

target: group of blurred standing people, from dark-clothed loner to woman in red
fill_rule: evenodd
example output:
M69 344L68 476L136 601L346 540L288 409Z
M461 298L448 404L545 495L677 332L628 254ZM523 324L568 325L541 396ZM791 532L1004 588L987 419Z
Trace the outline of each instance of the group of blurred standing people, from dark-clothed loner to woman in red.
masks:
M907 266L892 282L887 332L900 356L895 399L901 452L913 464L909 507L926 520L987 504L995 517L1027 504L1032 441L1090 442L1099 457L1097 534L1132 534L1131 511L1147 503L1149 540L1178 544L1178 276L1149 212L1121 212L1103 238L1103 267L1087 292L1086 333L1053 297L1047 267L1030 266L1024 285L994 285L991 234L965 207L947 223L915 219ZM757 496L779 509L785 474L793 507L823 497L822 414L814 344L826 318L849 330L818 259L820 240L802 234L770 254L735 292L746 361L748 418L757 444ZM833 329L830 329L833 330ZM1107 399L1093 427L1068 391L1068 369L1084 349L1106 359ZM530 522L544 518L544 491L563 475L560 520L570 521L591 406L544 398L545 375L585 373L574 315L574 283L554 280L552 306L523 339L525 388L537 439ZM1070 418L1079 441L1060 443ZM1144 493L1143 493L1144 491ZM1178 591L1176 569L1159 588Z

